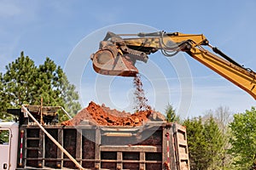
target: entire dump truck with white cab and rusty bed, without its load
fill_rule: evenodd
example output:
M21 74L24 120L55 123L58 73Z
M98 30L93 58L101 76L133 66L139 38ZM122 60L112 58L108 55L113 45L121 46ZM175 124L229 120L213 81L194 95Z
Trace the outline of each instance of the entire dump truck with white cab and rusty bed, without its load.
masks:
M63 126L57 109L8 110L19 122L0 122L1 169L189 170L186 129L177 123Z

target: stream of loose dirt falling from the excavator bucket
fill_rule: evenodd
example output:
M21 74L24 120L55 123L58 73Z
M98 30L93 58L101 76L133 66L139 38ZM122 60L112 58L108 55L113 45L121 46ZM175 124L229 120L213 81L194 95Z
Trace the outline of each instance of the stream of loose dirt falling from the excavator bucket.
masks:
M139 74L136 75L133 79L133 87L135 88L134 92L134 109L136 111L150 111L151 106L148 105L148 99L146 98L143 90L143 82Z

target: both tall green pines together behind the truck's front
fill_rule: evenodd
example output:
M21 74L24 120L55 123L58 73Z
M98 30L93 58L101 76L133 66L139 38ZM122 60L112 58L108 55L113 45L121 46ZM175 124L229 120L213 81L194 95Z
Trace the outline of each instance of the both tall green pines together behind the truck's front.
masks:
M74 115L81 109L79 94L67 80L60 66L46 58L43 65L34 64L21 52L20 57L6 66L6 73L0 75L0 113L3 119L7 108L18 108L20 105L60 105ZM62 113L61 121L67 120Z

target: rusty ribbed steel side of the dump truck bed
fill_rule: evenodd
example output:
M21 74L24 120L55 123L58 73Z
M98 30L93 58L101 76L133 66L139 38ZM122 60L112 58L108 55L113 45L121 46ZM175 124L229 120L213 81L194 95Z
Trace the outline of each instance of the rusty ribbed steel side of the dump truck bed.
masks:
M186 129L176 123L44 128L86 169L189 170ZM77 169L38 126L20 126L21 136L17 169Z

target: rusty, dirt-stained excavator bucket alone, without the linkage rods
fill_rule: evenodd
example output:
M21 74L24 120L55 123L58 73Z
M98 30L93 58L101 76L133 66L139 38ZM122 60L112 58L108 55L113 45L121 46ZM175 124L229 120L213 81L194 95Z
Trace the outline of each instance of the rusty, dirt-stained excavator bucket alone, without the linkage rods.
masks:
M102 41L100 49L90 56L97 73L109 76L136 77L136 60L130 54L122 52L111 42Z

